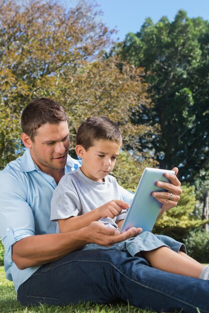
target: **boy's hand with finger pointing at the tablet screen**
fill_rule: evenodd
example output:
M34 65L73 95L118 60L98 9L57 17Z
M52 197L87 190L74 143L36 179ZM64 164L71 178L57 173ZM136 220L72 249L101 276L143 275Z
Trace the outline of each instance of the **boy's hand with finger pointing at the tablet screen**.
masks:
M112 200L112 201L109 201L109 202L97 207L97 212L100 215L99 218L101 218L101 217L103 217L103 218L106 218L106 217L114 218L115 216L120 214L122 209L126 209L129 206L130 205L127 202L124 202L122 200Z

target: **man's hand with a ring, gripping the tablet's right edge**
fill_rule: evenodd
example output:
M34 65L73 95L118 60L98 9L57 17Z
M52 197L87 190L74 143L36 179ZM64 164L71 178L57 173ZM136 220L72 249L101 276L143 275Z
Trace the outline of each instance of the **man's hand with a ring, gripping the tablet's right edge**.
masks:
M163 181L157 181L156 185L158 187L161 187L163 189L166 189L167 191L154 191L152 192L152 195L160 202L162 203L162 207L160 209L159 215L161 216L163 211L167 211L170 208L177 205L180 194L182 193L181 190L181 183L176 177L178 173L178 168L174 167L172 170L175 171L175 174L165 173L165 177L167 177L170 180L169 182L163 182ZM158 215L158 217L159 217Z

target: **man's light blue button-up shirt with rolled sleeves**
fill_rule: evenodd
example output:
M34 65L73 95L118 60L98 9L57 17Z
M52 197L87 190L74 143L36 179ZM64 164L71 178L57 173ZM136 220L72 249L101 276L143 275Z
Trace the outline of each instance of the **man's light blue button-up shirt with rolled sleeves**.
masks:
M68 156L65 173L77 169L78 160ZM40 266L18 269L12 260L12 245L35 234L56 232L50 221L54 178L33 161L30 150L0 171L0 236L5 246L6 277L14 281L16 290Z

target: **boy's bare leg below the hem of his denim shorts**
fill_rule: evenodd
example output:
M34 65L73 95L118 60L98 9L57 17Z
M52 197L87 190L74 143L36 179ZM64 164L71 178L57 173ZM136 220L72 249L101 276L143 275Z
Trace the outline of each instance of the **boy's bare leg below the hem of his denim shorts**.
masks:
M204 267L185 253L181 251L177 253L166 246L151 251L141 251L141 255L152 267L194 278L199 278Z

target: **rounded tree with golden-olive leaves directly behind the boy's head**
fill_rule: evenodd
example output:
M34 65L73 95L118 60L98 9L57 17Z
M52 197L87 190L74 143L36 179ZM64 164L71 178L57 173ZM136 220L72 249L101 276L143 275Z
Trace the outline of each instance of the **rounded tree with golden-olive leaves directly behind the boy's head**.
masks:
M63 71L58 82L59 97L69 114L69 127L74 148L77 128L89 115L105 115L120 126L123 135L123 148L129 145L138 149L138 138L152 131L149 124L132 123L133 111L139 111L138 103L151 107L147 96L147 84L141 78L143 70L129 64L123 65L123 72L118 68L118 58L87 62L75 74ZM69 83L70 82L70 83ZM72 151L71 151L72 153ZM143 159L148 151L142 151ZM152 155L148 156L150 161ZM148 162L148 160L147 160Z

